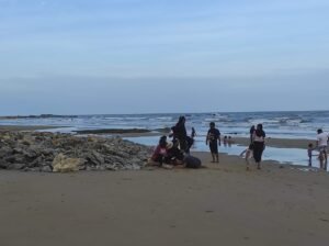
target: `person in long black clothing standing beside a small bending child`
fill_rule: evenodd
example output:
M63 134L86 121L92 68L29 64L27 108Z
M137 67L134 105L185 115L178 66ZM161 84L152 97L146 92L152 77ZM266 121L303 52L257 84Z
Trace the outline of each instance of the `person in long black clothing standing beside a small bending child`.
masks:
M257 169L261 169L262 154L265 148L265 132L263 131L263 125L258 124L256 131L252 134L253 143L253 158L257 164Z

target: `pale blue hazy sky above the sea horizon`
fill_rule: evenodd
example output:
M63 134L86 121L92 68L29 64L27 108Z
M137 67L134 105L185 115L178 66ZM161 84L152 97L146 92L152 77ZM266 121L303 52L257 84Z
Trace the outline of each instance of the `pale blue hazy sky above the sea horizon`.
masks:
M0 115L329 110L328 0L0 0Z

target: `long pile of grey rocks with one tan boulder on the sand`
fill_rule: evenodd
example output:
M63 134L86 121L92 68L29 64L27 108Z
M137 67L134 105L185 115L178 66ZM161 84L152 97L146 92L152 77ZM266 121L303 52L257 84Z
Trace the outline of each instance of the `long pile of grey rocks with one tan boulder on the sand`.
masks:
M151 149L120 137L0 132L0 169L25 171L138 170Z

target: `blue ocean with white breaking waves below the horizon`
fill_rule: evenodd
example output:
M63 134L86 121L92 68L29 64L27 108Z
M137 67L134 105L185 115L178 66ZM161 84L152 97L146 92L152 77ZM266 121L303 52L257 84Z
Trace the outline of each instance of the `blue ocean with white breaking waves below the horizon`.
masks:
M235 112L235 113L164 113L164 114L98 114L73 116L20 118L1 120L1 125L65 126L60 132L97 128L171 127L180 115L186 118L186 128L194 127L205 136L209 122L215 122L222 135L248 136L251 125L262 123L266 135L274 138L314 139L317 128L329 131L329 111Z

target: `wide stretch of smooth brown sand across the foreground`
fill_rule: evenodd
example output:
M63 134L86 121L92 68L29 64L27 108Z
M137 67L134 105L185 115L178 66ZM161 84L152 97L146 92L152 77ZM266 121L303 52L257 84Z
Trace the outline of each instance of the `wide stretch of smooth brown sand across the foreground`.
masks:
M329 244L328 174L195 155L207 168L0 171L0 245Z

